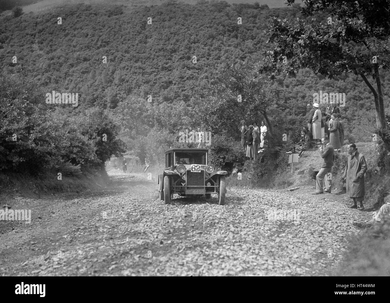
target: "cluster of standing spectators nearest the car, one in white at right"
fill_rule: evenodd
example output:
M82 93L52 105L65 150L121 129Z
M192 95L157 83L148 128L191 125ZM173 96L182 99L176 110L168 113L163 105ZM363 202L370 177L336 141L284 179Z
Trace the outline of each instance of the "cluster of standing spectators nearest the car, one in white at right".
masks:
M238 130L241 132L241 146L246 150L246 156L250 160L255 160L266 146L267 126L265 126L264 121L261 122L260 127L257 126L257 122L246 126L243 120L238 126Z

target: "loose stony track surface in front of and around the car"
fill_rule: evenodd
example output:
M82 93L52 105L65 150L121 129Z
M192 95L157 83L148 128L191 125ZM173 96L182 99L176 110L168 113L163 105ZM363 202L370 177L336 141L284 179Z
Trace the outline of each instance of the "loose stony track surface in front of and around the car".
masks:
M327 275L371 217L345 195L310 196L309 180L293 192L228 187L224 206L165 205L144 176L114 171L99 193L16 202L32 220L0 221L0 275Z

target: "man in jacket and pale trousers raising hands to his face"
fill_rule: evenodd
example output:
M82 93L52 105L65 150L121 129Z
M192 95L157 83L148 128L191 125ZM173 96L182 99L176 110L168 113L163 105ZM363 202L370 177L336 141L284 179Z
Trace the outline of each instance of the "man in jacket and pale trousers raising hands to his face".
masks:
M324 138L324 144L325 148L324 150L319 150L321 153L321 158L323 158L323 163L321 165L321 169L317 173L316 176L316 186L317 189L313 194L323 194L325 193L332 193L332 174L330 174L330 177L328 176L328 173L332 172L332 166L333 166L333 146L329 143L328 137ZM323 189L323 180L325 179L325 190Z

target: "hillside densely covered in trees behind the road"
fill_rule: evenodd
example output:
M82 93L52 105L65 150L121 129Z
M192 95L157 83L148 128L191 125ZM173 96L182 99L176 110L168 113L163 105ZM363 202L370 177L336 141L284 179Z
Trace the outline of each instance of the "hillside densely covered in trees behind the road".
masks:
M178 132L190 124L217 136L227 131L238 140L239 120L264 119L245 103L227 109L232 90L229 95L225 76L227 68L254 65L272 49L265 30L273 17L302 18L300 6L269 9L200 0L150 7L70 5L5 16L0 64L5 75L23 74L43 87L43 103L47 92L78 93L76 108L47 108L60 111L57 116L80 115L91 107L115 113L122 140L143 161L156 158L161 146L177 144ZM388 107L390 77L382 77ZM371 140L372 96L362 79L343 74L329 80L301 70L295 78L279 76L265 84L269 121L278 135L305 124L306 104L322 90L346 93L341 109L346 137ZM156 146L142 145L146 135L156 136Z

